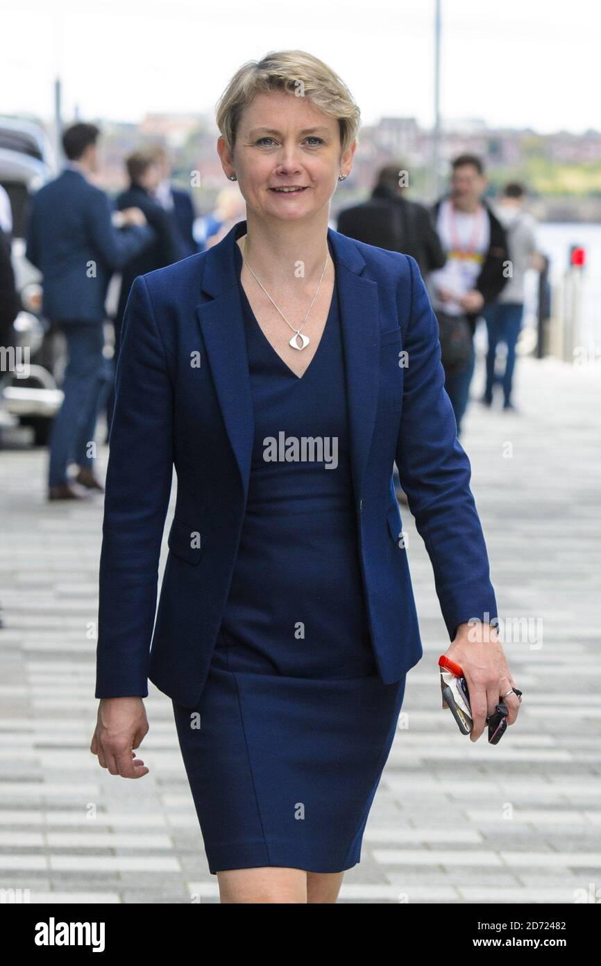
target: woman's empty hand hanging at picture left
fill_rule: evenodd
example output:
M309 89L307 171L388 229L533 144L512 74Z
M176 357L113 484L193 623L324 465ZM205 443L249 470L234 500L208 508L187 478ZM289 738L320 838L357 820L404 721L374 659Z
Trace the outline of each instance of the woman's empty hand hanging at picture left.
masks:
M149 722L141 697L101 697L90 751L102 768L123 779L141 779L149 771L136 757Z

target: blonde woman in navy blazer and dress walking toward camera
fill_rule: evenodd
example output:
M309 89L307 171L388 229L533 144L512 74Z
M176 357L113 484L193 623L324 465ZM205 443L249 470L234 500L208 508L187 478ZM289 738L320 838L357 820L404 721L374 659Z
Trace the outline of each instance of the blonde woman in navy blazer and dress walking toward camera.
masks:
M247 217L139 276L123 322L92 751L112 774L145 775L148 679L172 698L224 902L336 902L360 861L423 653L395 460L472 740L499 696L510 723L519 706L417 263L328 228L359 117L308 53L243 65L217 148Z

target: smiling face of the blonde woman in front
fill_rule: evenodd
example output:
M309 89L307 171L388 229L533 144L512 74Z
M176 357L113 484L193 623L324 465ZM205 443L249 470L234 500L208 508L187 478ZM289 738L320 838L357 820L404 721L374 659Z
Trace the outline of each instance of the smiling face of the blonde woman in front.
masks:
M355 144L341 157L336 118L309 98L274 91L258 94L242 112L233 156L222 138L218 149L230 166L226 173L235 171L254 213L293 221L328 208L339 174L350 170ZM290 187L293 190L283 190Z

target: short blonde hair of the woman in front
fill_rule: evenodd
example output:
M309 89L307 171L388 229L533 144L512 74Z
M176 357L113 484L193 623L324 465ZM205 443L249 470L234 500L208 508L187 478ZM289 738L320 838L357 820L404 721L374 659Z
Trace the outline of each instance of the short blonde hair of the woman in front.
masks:
M215 105L217 127L231 152L242 111L257 94L271 91L309 98L324 114L336 118L341 154L358 140L361 112L341 77L304 50L274 50L238 68Z

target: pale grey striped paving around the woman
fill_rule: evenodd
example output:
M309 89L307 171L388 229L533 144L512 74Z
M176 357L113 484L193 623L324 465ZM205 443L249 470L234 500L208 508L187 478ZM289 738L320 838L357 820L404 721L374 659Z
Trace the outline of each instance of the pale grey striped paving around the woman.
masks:
M521 359L522 412L474 403L466 417L524 691L519 725L496 748L462 737L441 708L448 637L403 514L424 656L341 902L601 897L600 374L601 363ZM143 780L109 775L89 751L101 497L48 505L44 470L43 451L0 454L0 888L29 889L33 902L215 902L170 700L150 686Z

